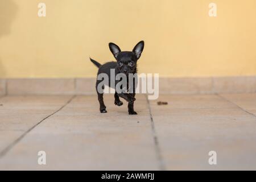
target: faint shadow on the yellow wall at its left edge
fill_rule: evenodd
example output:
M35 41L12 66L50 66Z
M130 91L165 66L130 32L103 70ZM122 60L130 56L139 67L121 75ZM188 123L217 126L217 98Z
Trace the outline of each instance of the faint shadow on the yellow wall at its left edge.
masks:
M0 43L3 36L11 33L11 24L15 19L18 6L13 0L0 0ZM0 55L1 56L1 55ZM5 76L5 68L0 57L0 76Z

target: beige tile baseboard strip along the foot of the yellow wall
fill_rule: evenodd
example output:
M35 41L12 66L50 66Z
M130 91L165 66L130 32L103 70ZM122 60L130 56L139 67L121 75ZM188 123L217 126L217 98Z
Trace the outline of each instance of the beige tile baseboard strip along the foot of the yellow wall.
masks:
M96 78L0 79L0 95L96 94ZM159 78L159 94L256 93L256 76Z

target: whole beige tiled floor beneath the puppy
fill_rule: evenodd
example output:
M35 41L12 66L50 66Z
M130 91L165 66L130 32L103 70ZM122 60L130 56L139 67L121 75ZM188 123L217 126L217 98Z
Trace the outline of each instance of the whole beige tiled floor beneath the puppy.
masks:
M0 169L256 169L256 94L138 95L138 115L104 100L106 114L96 96L1 97Z

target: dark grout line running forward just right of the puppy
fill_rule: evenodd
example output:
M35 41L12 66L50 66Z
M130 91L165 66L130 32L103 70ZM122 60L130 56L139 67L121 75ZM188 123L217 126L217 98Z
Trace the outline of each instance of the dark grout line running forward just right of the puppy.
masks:
M158 137L157 137L156 131L155 131L155 123L154 123L154 119L152 117L150 102L148 100L148 95L145 94L145 96L146 96L146 100L147 100L148 110L150 112L151 129L152 129L152 134L153 134L153 137L154 137L155 151L156 151L156 155L157 155L157 158L158 158L158 161L159 161L159 169L161 171L165 171L166 167L165 167L165 164L164 164L164 161L163 161L163 157L161 155L159 141L158 141Z

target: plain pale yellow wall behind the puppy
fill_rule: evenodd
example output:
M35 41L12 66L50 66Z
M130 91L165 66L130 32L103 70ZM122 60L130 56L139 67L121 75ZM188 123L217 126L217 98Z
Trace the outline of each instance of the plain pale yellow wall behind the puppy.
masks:
M109 42L131 50L139 40L139 72L256 75L256 1L0 0L0 77L93 77L89 56L104 63Z

